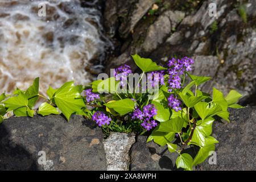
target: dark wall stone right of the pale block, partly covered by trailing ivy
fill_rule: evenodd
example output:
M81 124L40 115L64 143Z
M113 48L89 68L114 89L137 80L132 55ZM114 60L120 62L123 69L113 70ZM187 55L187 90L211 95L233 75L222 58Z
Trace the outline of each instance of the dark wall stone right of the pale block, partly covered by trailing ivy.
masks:
M208 160L200 164L200 170L255 170L256 169L256 107L230 110L230 123L215 121L213 136L220 142L216 144L217 164ZM154 142L146 143L146 136L138 136L131 148L131 170L176 170L176 153ZM187 148L195 157L198 148Z

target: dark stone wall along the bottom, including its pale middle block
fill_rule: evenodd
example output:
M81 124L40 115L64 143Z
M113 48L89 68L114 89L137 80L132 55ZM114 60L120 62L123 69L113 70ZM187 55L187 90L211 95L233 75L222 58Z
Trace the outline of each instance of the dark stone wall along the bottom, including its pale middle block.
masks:
M214 122L217 163L195 169L255 170L255 118L256 107L245 107L230 110L230 123ZM11 117L0 125L0 170L177 170L176 154L146 139L121 133L104 139L94 122L77 115L69 123L61 115Z

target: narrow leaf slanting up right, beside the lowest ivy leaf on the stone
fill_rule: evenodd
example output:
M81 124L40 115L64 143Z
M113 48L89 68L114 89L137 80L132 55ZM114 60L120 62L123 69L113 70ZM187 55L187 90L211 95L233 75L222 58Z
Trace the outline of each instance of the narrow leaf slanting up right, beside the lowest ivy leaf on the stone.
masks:
M203 163L205 159L207 159L208 156L210 155L210 151L214 151L214 150L215 150L214 144L201 147L200 150L197 152L195 158L193 159L193 166Z

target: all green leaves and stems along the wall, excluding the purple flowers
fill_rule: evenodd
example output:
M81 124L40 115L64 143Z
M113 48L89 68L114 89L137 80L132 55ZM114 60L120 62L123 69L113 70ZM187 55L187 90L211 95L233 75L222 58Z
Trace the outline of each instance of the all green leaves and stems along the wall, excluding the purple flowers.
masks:
M139 55L133 55L133 59L141 68L143 75L147 72L167 69ZM185 75L188 75L190 82L187 82ZM181 88L169 92L168 76L164 75L165 85L160 86L158 94L154 95L148 92L137 94L119 92L120 82L116 81L115 77L110 77L93 81L91 86L75 85L73 81L66 82L59 89L49 86L48 98L39 94L39 78L35 78L27 90L17 88L11 95L5 93L0 95L0 123L11 111L16 117L33 117L35 113L45 116L60 114L59 111L61 111L68 121L72 114L92 118L100 111L105 114L105 117L110 118L109 125L101 127L105 135L109 135L112 131L137 134L148 132L147 142L152 141L160 146L167 146L170 152L177 152L179 155L176 159L177 168L192 170L194 166L208 158L215 149L215 143L218 143L211 136L216 117L229 122L228 107L242 108L237 104L242 95L236 90L231 90L224 97L220 90L213 88L210 96L198 89L198 86L210 80L210 77L195 76L187 72L181 79L183 80ZM139 84L142 84L142 80L139 80ZM82 90L85 89L92 89L92 92L97 94L97 100L88 101L87 96L82 95ZM182 101L180 109L177 110L168 105L171 94ZM34 106L39 97L46 101L36 110ZM141 126L143 121L131 118L135 109L144 111L144 106L148 104L154 105L157 110L153 119L158 126L151 133ZM193 146L200 147L195 158L184 150L185 147Z

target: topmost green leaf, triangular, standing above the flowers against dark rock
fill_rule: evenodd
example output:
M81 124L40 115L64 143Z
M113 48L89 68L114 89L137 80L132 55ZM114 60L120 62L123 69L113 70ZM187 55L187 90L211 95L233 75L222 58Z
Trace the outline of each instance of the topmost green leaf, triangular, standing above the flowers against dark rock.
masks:
M155 62L153 62L151 59L142 58L139 55L132 55L132 57L133 57L133 60L135 61L135 63L137 64L137 66L139 68L141 68L141 70L144 73L166 69L164 67L160 67Z

